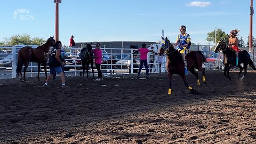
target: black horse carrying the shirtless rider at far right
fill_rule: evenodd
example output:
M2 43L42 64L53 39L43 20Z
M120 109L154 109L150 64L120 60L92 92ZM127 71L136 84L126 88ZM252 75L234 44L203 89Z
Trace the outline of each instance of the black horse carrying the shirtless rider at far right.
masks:
M228 79L231 81L232 77L229 76L229 70L236 65L235 51L231 50L231 48L228 47L228 44L223 42L223 39L219 43L217 43L214 50L215 53L219 51L222 51L223 53L224 75L228 77ZM241 63L243 63L244 67L241 66ZM251 60L250 54L246 50L240 50L238 52L238 66L237 66L240 69L240 71L238 73L237 78L239 79L239 76L244 69L244 75L240 78L241 81L243 81L244 76L247 73L248 64L253 70L256 70L253 64L253 61Z

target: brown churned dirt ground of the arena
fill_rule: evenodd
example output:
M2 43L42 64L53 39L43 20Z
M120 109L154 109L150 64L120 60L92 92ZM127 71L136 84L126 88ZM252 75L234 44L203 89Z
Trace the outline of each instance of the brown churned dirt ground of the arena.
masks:
M206 71L202 87L189 73L199 94L174 75L171 95L166 73L67 77L70 89L59 77L0 79L0 143L255 143L256 73L222 73Z

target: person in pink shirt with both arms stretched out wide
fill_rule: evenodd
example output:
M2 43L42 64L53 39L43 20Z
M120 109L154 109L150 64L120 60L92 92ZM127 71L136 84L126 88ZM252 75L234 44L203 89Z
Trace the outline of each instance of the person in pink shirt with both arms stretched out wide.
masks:
M148 50L147 47L146 47L146 44L142 44L142 48L138 49L138 50L135 50L133 52L136 53L137 51L140 52L140 68L139 68L139 72L138 72L138 78L140 76L140 72L141 72L141 69L143 67L143 65L145 66L145 69L146 69L146 78L149 78L149 74L148 74L148 61L147 61L147 58L148 58L148 52L153 52L155 54L157 54L155 51L153 50Z

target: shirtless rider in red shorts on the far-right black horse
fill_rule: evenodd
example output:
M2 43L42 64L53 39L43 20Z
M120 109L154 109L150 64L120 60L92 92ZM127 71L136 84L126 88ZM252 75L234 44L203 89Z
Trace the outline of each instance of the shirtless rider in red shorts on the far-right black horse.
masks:
M238 29L234 29L230 31L230 37L228 39L228 46L235 51L236 54L236 67L238 66L238 38L236 37L237 33L239 32Z

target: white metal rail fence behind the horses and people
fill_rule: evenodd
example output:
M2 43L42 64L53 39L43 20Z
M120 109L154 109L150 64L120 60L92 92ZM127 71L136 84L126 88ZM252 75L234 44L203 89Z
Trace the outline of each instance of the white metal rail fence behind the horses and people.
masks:
M0 78L14 78L16 77L17 69L17 60L18 60L18 51L21 49L21 46L0 46ZM62 48L66 53L66 63L65 74L68 76L79 76L82 72L82 64L80 59L80 47L63 47ZM102 65L101 70L103 75L121 75L121 74L134 74L138 73L140 59L139 54L132 54L135 49L124 49L122 47L115 48L101 48L102 53ZM205 63L203 67L207 70L213 69L222 69L222 54L213 52L213 45L191 45L190 50L200 50L206 56L209 63ZM240 48L245 49L249 52L249 48ZM155 50L156 51L156 50ZM249 52L251 59L255 63L255 52L252 49ZM9 55L12 56L10 59L10 65L3 65L2 61ZM162 65L161 65L162 64ZM150 73L163 73L166 71L165 68L166 58L159 58L153 53L148 53L148 65ZM160 67L161 66L161 67ZM43 69L43 66L41 67ZM48 72L49 72L49 68ZM91 68L90 68L91 71ZM142 69L142 73L145 73L145 69ZM90 72L91 73L91 72ZM94 69L94 73L97 75L97 69ZM40 75L44 76L44 71L40 71ZM37 76L37 63L30 62L29 67L26 72L26 76L35 77Z

